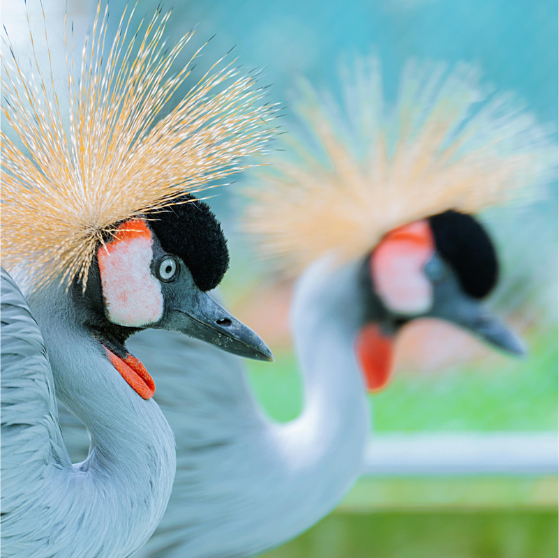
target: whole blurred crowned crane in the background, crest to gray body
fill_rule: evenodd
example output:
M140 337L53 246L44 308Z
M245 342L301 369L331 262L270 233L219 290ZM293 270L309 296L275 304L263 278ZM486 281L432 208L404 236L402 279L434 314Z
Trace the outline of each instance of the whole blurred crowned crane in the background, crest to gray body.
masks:
M129 342L158 371L156 398L177 439L167 512L138 557L247 557L329 513L362 471L366 388L389 382L405 322L439 317L523 352L482 304L498 261L471 213L533 193L555 160L549 138L512 101L482 103L467 66L443 79L440 66L409 63L395 113L382 107L375 60L357 67L344 107L313 98L302 107L301 132L285 136L292 154L261 176L246 216L262 255L301 274L292 304L301 415L270 421L230 354L163 331ZM349 136L332 127L347 112ZM391 155L385 133L398 137ZM309 157L309 139L328 157Z

